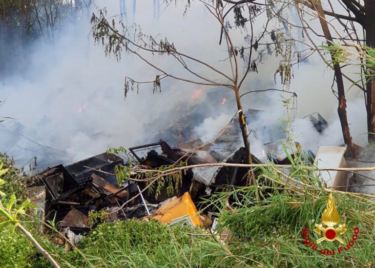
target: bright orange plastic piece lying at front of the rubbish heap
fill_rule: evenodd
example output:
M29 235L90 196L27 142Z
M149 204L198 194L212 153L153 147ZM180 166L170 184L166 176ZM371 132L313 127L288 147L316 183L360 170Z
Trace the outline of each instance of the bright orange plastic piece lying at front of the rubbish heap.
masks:
M197 213L197 208L189 193L186 192L182 197L171 200L161 206L151 217L162 223L170 223L177 218L189 216L194 226L197 226L202 224L202 220Z

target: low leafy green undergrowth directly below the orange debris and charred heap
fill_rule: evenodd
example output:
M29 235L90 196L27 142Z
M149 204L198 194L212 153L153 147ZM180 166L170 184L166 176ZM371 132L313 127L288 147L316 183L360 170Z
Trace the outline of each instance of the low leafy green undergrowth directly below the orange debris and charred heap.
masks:
M207 234L200 237L199 231L190 233L187 226L170 227L156 221L102 223L83 238L82 253L61 248L55 256L66 267L210 266L212 258L202 253L208 252L214 240Z

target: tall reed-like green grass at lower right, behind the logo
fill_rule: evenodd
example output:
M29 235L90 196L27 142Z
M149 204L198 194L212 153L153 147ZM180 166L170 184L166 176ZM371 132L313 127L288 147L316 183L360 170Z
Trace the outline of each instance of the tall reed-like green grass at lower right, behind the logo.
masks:
M317 251L304 244L305 227L313 240L319 238L313 232L314 223L320 222L328 199L328 191L320 186L312 169L305 167L294 166L289 176L272 165L262 168L262 176L273 183L261 187L263 200L259 202L251 198L254 187L233 189L214 197L219 201L218 208L225 207L226 200L233 200L231 206L235 209L218 215L220 227L228 227L236 236L229 242L232 253L242 256L249 265L261 263L266 267L374 266L369 256L374 255L375 204L360 194L334 193L341 221L348 228L346 243L351 241L354 227L359 227L354 247L341 255L324 256L320 249L335 249L337 254L337 247L347 244L322 242Z

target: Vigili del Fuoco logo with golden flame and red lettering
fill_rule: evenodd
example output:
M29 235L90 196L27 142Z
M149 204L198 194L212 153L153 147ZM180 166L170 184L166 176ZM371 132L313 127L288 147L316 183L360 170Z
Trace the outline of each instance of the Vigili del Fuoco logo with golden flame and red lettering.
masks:
M326 208L323 211L323 215L321 218L321 223L315 223L314 231L319 234L320 238L316 240L316 244L312 242L309 238L310 233L308 232L308 227L303 228L302 233L304 234L304 244L309 246L312 250L317 250L318 245L323 240L328 242L338 241L340 246L334 248L334 244L332 244L332 248L327 249L323 248L319 250L319 253L322 255L335 255L340 254L343 251L349 250L351 247L354 246L354 241L358 239L359 228L355 227L353 231L352 240L344 246L346 243L341 235L345 234L347 229L345 228L345 223L340 223L340 216L337 213L336 204L334 203L332 194L328 198Z

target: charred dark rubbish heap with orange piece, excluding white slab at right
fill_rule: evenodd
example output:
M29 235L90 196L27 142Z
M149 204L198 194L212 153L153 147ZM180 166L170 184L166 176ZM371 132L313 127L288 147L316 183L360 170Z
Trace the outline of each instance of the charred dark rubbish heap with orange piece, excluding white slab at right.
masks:
M199 147L199 150L191 150ZM170 147L167 142L146 144L129 149L131 164L146 170L186 161L188 165L217 163L200 139ZM244 163L245 150L240 148L224 159ZM256 158L254 158L256 159ZM258 161L258 160L256 160ZM186 222L195 227L212 223L208 217L197 216L199 202L223 184L246 185L245 168L212 167L190 169L182 175L181 184L171 198L167 187L146 190L147 183L132 172L118 185L117 165L129 165L120 156L104 153L70 165L47 168L32 177L27 188L32 203L38 206L41 221L54 220L61 232L77 243L99 222L113 222L150 216L162 223ZM137 179L138 178L138 179ZM45 231L40 225L40 231Z

